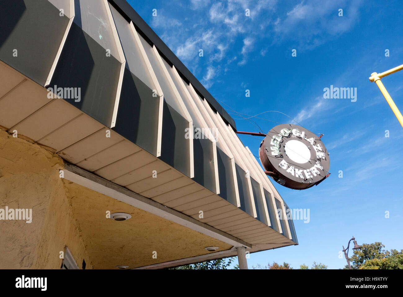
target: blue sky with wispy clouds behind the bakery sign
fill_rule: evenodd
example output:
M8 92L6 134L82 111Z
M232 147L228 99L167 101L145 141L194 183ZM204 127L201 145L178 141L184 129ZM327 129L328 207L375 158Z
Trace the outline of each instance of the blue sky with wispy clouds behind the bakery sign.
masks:
M368 80L372 72L403 63L400 1L129 3L222 103L239 131L259 131L239 114L272 110L324 134L332 173L326 181L302 191L274 183L291 209L310 209L309 223L294 221L299 245L254 253L249 268L273 261L294 268L313 261L343 268L346 261L339 251L351 236L358 244L380 241L386 249L403 249L403 128L376 84ZM402 78L403 71L382 79L401 110ZM323 89L330 85L357 88L357 101L324 99ZM264 132L275 122L291 121L276 112L258 117L262 119L253 120ZM262 139L240 138L258 156Z

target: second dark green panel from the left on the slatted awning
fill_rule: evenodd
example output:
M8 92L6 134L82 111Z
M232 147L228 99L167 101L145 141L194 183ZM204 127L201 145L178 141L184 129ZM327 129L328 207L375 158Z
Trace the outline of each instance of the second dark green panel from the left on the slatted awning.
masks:
M118 60L73 22L49 87L79 88L80 101L64 100L110 127L120 68Z

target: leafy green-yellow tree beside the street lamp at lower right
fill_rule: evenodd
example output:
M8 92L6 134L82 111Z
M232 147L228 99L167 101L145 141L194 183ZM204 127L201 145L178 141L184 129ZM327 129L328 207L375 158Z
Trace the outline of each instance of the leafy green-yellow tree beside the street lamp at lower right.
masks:
M387 251L382 242L364 243L350 258L352 269L403 269L403 250ZM349 269L348 265L344 269Z

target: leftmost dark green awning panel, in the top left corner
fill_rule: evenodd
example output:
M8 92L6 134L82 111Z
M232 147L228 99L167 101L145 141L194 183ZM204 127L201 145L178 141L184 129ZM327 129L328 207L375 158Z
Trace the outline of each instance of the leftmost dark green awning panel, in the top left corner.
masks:
M44 86L69 23L59 14L48 0L0 0L0 59Z

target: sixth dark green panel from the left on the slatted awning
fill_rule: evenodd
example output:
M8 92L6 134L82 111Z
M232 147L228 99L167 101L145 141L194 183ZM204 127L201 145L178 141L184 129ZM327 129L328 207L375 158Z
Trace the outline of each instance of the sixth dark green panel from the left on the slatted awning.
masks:
M235 183L232 171L232 162L222 150L217 147L218 181L220 183L221 198L237 206L237 196L235 194Z

